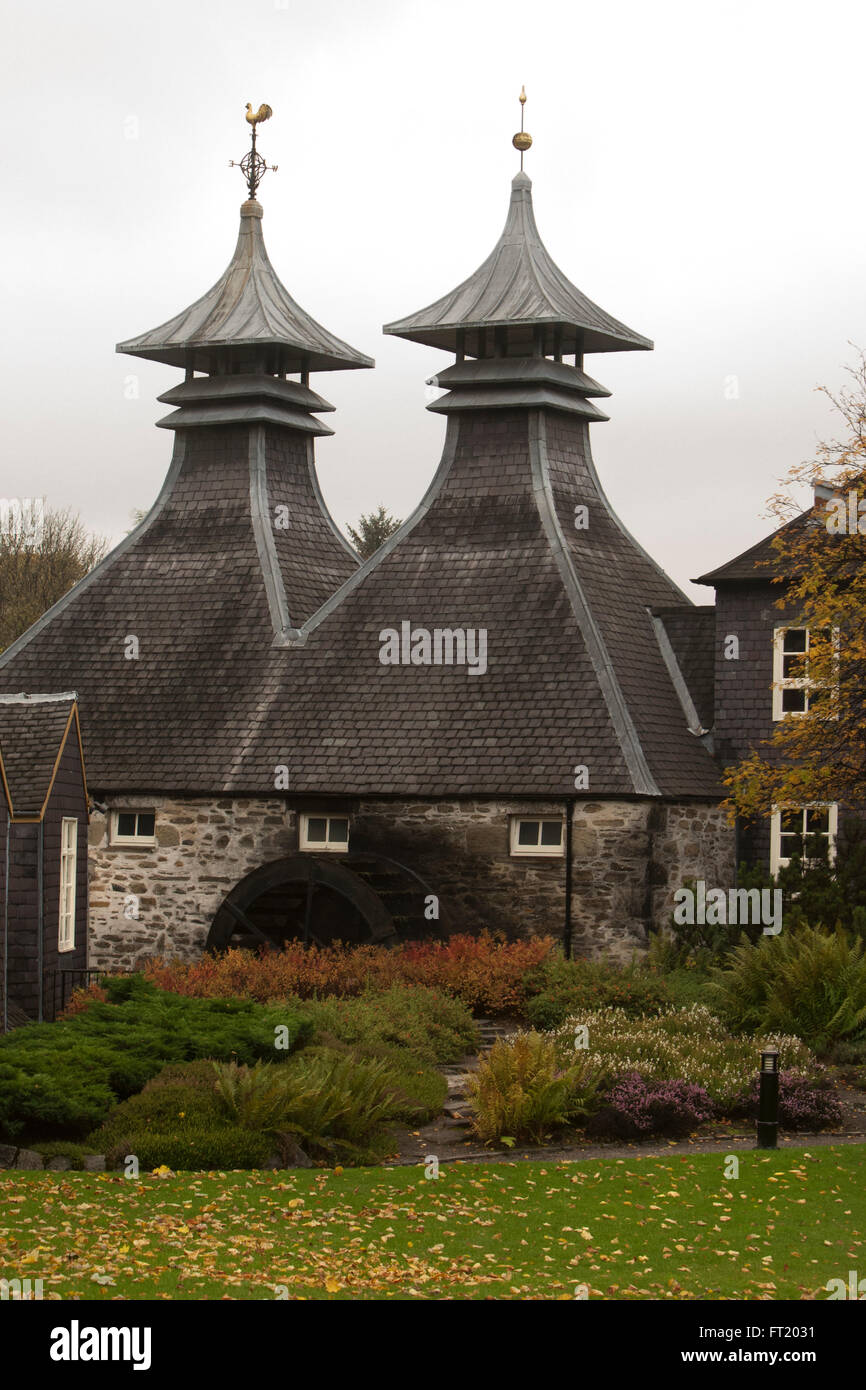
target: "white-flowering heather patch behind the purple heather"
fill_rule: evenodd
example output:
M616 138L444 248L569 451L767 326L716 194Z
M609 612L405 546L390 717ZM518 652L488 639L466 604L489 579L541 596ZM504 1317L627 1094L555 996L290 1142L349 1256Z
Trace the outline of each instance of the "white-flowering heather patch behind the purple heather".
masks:
M630 1019L623 1009L574 1015L555 1033L563 1062L574 1056L581 1024L588 1029L588 1048L581 1056L602 1068L609 1079L639 1072L653 1080L691 1081L702 1086L721 1106L730 1105L751 1084L765 1047L778 1048L785 1072L815 1074L819 1070L799 1038L735 1037L703 1004L638 1019Z

